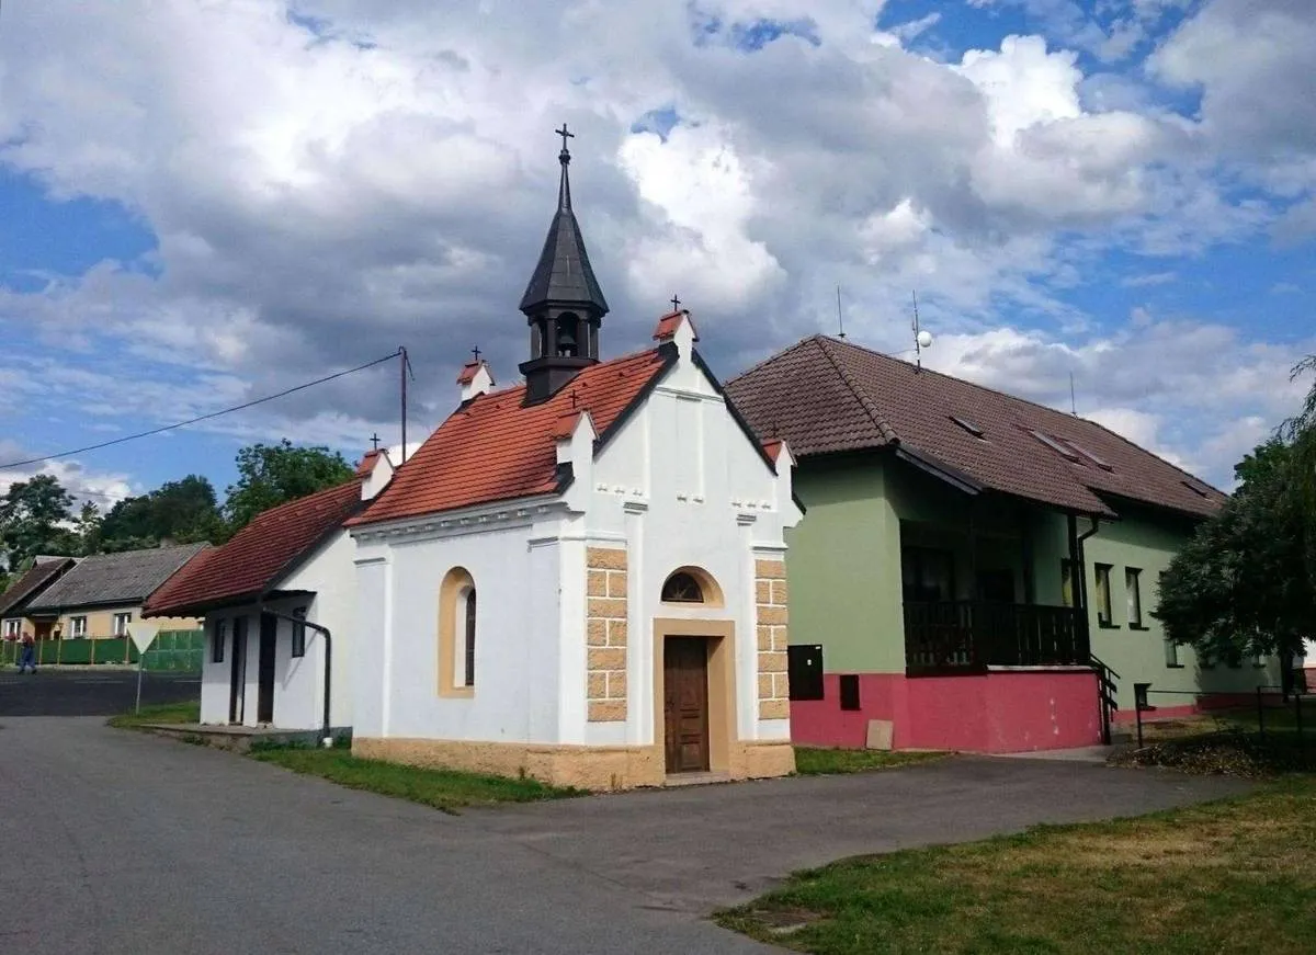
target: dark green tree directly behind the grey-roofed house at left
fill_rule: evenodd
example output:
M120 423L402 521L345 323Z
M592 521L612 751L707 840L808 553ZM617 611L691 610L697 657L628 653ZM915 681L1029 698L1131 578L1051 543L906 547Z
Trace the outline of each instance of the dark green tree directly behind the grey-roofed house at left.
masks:
M195 474L150 493L125 497L109 509L101 525L101 546L107 552L157 547L163 541L215 542L224 535L215 488Z

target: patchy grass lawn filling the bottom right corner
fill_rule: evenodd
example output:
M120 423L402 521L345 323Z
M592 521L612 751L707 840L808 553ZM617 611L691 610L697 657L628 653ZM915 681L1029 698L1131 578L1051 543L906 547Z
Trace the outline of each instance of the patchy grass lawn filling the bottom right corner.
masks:
M1316 777L794 875L717 921L825 955L1316 951ZM803 926L803 927L796 927Z

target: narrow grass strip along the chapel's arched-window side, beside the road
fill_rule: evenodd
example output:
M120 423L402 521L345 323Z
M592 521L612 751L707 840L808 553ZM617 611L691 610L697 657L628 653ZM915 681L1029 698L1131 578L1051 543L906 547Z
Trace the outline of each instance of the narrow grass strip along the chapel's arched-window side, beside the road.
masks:
M465 806L538 802L584 795L579 789L563 789L534 779L509 779L358 759L343 747L333 750L253 747L249 755L262 763L274 763L293 772L320 776L351 789L366 789L382 796L420 802L445 813L455 813Z

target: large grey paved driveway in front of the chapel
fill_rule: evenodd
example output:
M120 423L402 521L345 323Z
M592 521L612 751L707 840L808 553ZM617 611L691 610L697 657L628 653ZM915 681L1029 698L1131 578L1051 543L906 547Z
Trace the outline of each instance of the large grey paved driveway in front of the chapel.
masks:
M961 759L450 817L99 720L4 718L0 951L767 951L703 914L841 855L1240 789Z

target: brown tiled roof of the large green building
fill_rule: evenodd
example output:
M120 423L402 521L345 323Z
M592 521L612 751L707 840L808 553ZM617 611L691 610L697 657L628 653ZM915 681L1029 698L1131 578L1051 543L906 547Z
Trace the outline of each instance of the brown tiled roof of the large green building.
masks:
M1092 514L1112 514L1117 497L1202 516L1225 500L1094 421L826 335L750 368L726 392L797 458L899 447L983 488Z

